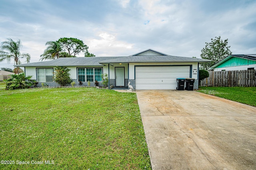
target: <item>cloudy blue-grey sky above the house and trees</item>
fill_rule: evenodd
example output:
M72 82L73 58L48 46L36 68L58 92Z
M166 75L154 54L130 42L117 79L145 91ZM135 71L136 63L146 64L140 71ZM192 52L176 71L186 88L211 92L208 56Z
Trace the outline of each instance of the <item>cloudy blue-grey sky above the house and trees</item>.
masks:
M200 58L218 36L233 54L256 54L255 9L255 0L0 0L0 42L20 39L30 63L62 37L82 40L98 57L154 49Z

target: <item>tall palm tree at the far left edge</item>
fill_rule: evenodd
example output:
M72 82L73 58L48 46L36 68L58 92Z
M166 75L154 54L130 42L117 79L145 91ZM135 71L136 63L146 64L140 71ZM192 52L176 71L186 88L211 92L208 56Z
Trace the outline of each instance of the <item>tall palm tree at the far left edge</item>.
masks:
M18 65L20 59L26 58L27 61L28 59L30 60L30 55L28 53L20 53L20 49L22 48L20 39L16 42L10 38L7 40L8 41L2 42L0 46L0 62L6 60L10 63L11 60L14 59L14 62Z

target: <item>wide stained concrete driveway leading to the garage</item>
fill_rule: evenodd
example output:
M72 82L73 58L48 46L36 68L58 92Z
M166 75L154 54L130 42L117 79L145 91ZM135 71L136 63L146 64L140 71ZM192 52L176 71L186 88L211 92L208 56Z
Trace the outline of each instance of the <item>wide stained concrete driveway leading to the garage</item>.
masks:
M136 93L153 170L256 169L256 107L196 91Z

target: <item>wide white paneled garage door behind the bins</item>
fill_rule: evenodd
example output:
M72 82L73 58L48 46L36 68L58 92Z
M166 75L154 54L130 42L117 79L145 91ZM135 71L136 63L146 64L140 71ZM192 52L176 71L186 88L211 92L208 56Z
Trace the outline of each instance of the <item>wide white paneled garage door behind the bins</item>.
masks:
M136 66L136 90L176 89L176 78L189 78L190 66Z

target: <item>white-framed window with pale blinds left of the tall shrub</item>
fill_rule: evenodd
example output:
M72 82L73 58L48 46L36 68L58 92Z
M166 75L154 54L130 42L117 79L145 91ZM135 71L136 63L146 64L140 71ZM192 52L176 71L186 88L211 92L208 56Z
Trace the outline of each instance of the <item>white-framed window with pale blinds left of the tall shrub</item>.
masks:
M37 68L38 82L53 82L53 68Z

